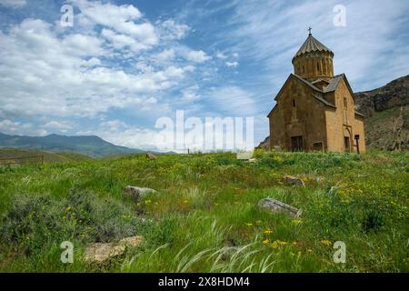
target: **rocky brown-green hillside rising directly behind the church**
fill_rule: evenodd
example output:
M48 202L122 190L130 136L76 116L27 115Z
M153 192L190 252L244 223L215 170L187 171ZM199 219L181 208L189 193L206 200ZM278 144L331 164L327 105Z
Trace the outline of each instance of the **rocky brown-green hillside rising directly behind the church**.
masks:
M368 148L409 150L409 75L380 88L355 93L355 107L364 119ZM270 137L259 148L268 149Z

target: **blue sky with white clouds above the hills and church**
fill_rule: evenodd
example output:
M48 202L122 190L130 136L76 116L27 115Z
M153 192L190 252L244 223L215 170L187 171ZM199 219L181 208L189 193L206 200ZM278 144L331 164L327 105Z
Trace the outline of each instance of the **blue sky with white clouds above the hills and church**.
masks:
M363 91L409 74L408 13L407 0L0 0L0 132L151 148L157 118L185 110L254 116L259 142L308 26Z

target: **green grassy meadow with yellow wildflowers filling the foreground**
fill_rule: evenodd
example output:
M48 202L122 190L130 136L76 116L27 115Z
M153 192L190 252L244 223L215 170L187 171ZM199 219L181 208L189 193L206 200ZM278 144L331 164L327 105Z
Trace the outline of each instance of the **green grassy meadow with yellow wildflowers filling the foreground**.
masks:
M0 170L0 271L409 272L409 154L144 156ZM284 175L305 187L285 186ZM133 202L124 186L158 191ZM274 197L300 218L261 212ZM145 236L109 264L85 247ZM60 244L75 246L74 264ZM335 241L346 263L333 261Z

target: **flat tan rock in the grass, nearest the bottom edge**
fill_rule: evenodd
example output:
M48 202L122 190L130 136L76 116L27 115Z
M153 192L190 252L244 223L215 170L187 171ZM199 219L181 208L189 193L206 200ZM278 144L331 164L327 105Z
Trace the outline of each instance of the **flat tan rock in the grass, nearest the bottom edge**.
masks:
M89 263L104 263L115 256L125 253L126 247L144 244L144 236L125 237L119 243L96 243L85 249L85 261Z

